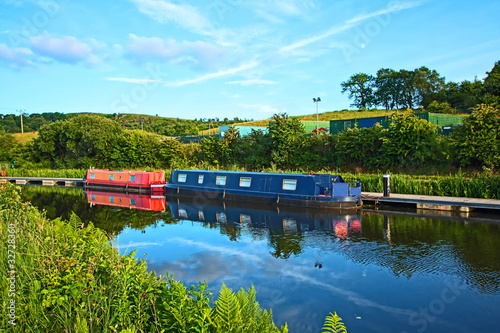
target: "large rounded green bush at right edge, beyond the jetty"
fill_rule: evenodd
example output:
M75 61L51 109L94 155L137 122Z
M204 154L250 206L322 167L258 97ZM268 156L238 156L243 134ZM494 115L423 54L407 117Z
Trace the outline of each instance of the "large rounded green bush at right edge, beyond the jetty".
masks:
M490 105L478 105L451 139L461 165L497 169L500 166L500 111Z

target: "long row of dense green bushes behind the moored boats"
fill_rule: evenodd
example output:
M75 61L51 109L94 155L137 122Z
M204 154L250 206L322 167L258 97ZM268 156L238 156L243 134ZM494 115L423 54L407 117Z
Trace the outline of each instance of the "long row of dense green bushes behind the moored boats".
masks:
M42 126L37 138L18 143L0 134L0 162L25 168L246 170L449 170L498 169L500 112L481 104L450 136L410 114L395 112L389 128L375 125L337 135L306 135L304 125L286 114L273 116L269 131L241 137L231 127L222 138L182 144L140 130L125 130L99 115L78 115ZM404 171L404 170L403 170Z

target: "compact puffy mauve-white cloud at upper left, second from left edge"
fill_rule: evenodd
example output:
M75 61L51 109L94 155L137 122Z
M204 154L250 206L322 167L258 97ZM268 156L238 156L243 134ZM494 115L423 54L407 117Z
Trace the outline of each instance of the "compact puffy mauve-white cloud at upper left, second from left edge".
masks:
M92 41L92 43L97 43ZM52 58L59 62L76 64L82 61L98 61L92 47L72 36L54 37L48 34L31 37L31 49L34 53Z

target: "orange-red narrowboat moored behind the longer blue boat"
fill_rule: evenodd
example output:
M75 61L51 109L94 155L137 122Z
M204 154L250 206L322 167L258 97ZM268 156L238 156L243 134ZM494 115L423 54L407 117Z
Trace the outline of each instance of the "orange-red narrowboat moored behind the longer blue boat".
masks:
M83 181L86 188L139 193L163 193L166 184L164 171L89 169Z

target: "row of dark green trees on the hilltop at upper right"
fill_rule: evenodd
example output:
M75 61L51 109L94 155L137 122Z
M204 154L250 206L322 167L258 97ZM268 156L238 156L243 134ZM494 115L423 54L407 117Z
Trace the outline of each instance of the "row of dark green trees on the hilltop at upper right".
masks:
M470 113L477 104L499 105L500 61L484 80L446 82L436 70L423 66L395 71L381 68L375 75L358 73L341 83L342 93L359 109L424 108L430 112Z

